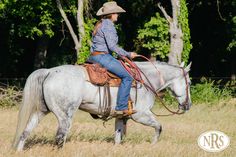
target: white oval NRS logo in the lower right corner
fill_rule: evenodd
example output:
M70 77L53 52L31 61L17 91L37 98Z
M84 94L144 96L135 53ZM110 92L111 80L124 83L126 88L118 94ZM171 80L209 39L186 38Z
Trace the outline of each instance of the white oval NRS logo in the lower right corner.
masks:
M208 152L220 152L229 146L229 137L220 131L207 131L198 137L198 146Z

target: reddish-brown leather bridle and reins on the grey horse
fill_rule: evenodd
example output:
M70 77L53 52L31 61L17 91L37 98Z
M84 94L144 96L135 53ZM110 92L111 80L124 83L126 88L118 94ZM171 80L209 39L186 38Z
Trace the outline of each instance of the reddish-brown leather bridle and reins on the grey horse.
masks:
M185 113L185 111L180 112L180 109L178 109L177 111L172 111L172 110L170 110L170 109L165 105L165 103L163 102L163 100L160 98L160 96L159 96L159 94L158 94L158 92L160 92L161 89L163 89L163 87L166 86L166 84L164 83L164 79L163 79L163 77L162 77L160 71L159 71L158 68L155 66L155 64L153 64L153 62L152 62L151 60L149 60L148 58L146 58L145 56L143 56L143 55L138 55L137 57L144 58L145 60L147 60L148 62L150 62L150 63L155 67L157 73L159 74L160 82L161 82L161 84L162 84L162 87L160 87L159 89L155 90L155 88L154 88L153 85L151 84L150 80L149 80L149 79L147 78L147 76L143 73L143 71L142 71L140 68L138 68L138 66L136 66L136 65L133 63L133 64L135 65L135 66L133 65L133 68L135 68L136 71L138 71L138 73L142 73L142 74L143 74L143 76L144 76L145 79L147 80L148 84L145 83L145 82L143 81L143 79L141 79L142 81L139 81L139 82L140 82L141 84L143 84L144 87L145 87L147 90L149 89L149 90L156 96L156 98L161 102L161 104L164 106L164 108L170 112L170 114L164 114L164 115L162 114L162 115L160 115L160 114L154 113L153 111L151 111L151 112L152 112L154 115L156 115L156 116L170 116L170 115L174 115L174 114L181 115L181 114ZM127 60L127 59L126 59L126 60ZM185 79L185 84L186 84L186 88L185 88L185 91L186 91L186 98L185 98L185 101L181 104L181 106L184 106L184 107L186 108L187 105L188 105L188 101L189 101L189 84L188 84L188 80L187 80L187 76L186 76L187 73L184 71L184 68L183 68L183 67L180 67L180 68L182 69L183 77L184 77L184 79ZM178 78L178 77L177 77L177 78ZM176 79L176 78L174 78L174 79Z

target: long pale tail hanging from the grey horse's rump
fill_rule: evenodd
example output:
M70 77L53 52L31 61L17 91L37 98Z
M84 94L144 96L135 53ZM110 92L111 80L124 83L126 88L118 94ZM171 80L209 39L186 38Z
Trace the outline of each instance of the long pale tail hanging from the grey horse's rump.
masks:
M17 148L20 137L32 114L40 110L40 106L44 103L42 84L48 74L49 71L47 69L39 69L27 78L23 91L23 100L18 114L16 134L12 145L13 149Z

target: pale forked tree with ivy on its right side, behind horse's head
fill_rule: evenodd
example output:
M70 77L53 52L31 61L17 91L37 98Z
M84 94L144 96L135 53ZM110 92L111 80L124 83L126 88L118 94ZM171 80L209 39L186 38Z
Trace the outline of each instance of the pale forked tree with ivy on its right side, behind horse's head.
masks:
M190 50L192 49L188 26L188 10L185 0L171 0L171 5L172 17L167 14L160 3L158 6L169 23L170 53L168 55L168 63L179 65L183 56L184 60L187 61Z

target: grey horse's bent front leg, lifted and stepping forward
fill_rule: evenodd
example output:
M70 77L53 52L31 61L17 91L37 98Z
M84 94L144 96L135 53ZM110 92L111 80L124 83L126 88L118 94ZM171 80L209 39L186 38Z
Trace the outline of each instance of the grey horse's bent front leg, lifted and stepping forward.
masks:
M151 111L137 112L132 116L132 119L143 125L153 127L155 129L155 134L153 137L152 144L155 144L158 141L158 138L162 131L162 127L161 124L155 119L155 116Z

